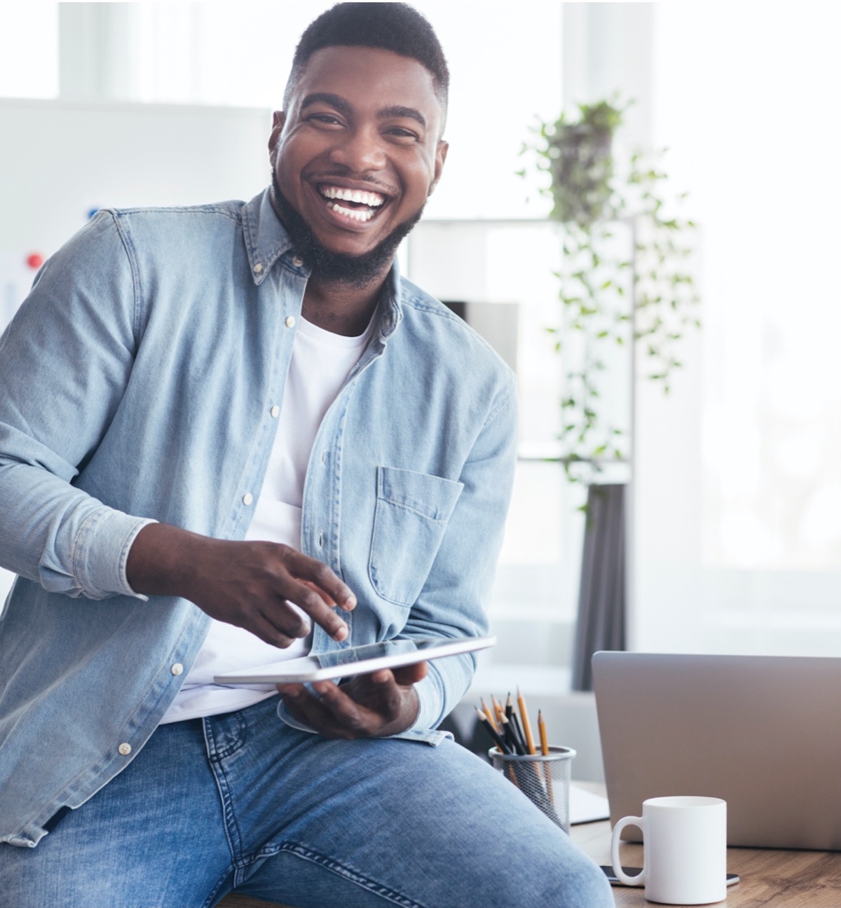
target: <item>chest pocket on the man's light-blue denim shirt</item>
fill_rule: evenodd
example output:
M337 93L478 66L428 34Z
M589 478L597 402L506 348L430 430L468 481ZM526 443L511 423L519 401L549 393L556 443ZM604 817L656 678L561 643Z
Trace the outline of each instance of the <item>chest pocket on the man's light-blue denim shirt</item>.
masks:
M411 606L423 588L463 482L377 468L377 508L368 574L377 593Z

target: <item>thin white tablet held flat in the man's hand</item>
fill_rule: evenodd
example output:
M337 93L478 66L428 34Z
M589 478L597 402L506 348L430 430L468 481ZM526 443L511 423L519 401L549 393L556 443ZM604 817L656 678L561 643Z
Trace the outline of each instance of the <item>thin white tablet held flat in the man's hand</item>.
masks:
M213 676L216 684L292 684L365 675L381 668L411 666L416 662L458 656L494 646L496 637L422 637L416 640L386 640L365 646L345 646L318 656L303 656Z

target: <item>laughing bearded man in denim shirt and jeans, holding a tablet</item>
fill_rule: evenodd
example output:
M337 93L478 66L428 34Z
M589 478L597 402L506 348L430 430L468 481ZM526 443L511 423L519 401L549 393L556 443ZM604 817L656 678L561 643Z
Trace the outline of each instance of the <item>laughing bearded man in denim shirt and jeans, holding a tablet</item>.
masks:
M334 7L296 51L271 192L102 212L6 332L0 905L611 903L433 730L470 656L213 685L486 627L513 382L393 269L447 82L411 7Z

